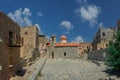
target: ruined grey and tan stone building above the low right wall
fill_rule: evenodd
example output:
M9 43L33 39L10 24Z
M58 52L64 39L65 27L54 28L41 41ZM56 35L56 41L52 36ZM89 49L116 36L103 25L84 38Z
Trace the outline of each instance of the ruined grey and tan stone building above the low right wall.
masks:
M114 40L115 28L99 27L92 42L93 50L107 48L110 41Z

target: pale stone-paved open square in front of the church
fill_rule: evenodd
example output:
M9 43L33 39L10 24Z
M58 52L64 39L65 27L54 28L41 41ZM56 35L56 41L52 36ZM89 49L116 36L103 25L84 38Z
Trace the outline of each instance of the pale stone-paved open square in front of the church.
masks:
M104 64L98 66L82 60L48 59L39 80L109 80L104 70Z

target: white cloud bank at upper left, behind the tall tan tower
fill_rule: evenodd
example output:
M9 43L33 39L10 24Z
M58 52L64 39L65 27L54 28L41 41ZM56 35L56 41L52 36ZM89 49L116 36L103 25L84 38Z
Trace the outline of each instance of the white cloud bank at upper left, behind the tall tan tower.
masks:
M30 19L32 17L32 13L29 8L24 8L24 9L19 8L14 12L8 13L8 16L12 20L17 22L21 27L33 25L33 22ZM39 32L42 33L39 24L34 24L34 25L37 26L37 28L39 29Z

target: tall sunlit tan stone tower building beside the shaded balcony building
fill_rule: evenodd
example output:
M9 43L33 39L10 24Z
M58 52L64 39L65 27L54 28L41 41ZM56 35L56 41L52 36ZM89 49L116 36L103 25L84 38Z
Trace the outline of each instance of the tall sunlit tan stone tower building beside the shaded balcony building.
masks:
M20 58L25 65L39 57L39 30L36 26L21 28L21 36L24 38L21 47Z

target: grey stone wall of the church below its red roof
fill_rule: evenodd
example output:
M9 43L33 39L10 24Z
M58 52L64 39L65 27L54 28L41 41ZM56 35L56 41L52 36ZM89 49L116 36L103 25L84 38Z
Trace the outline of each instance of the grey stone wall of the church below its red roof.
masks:
M53 52L48 49L50 58L79 58L78 47L55 47Z

